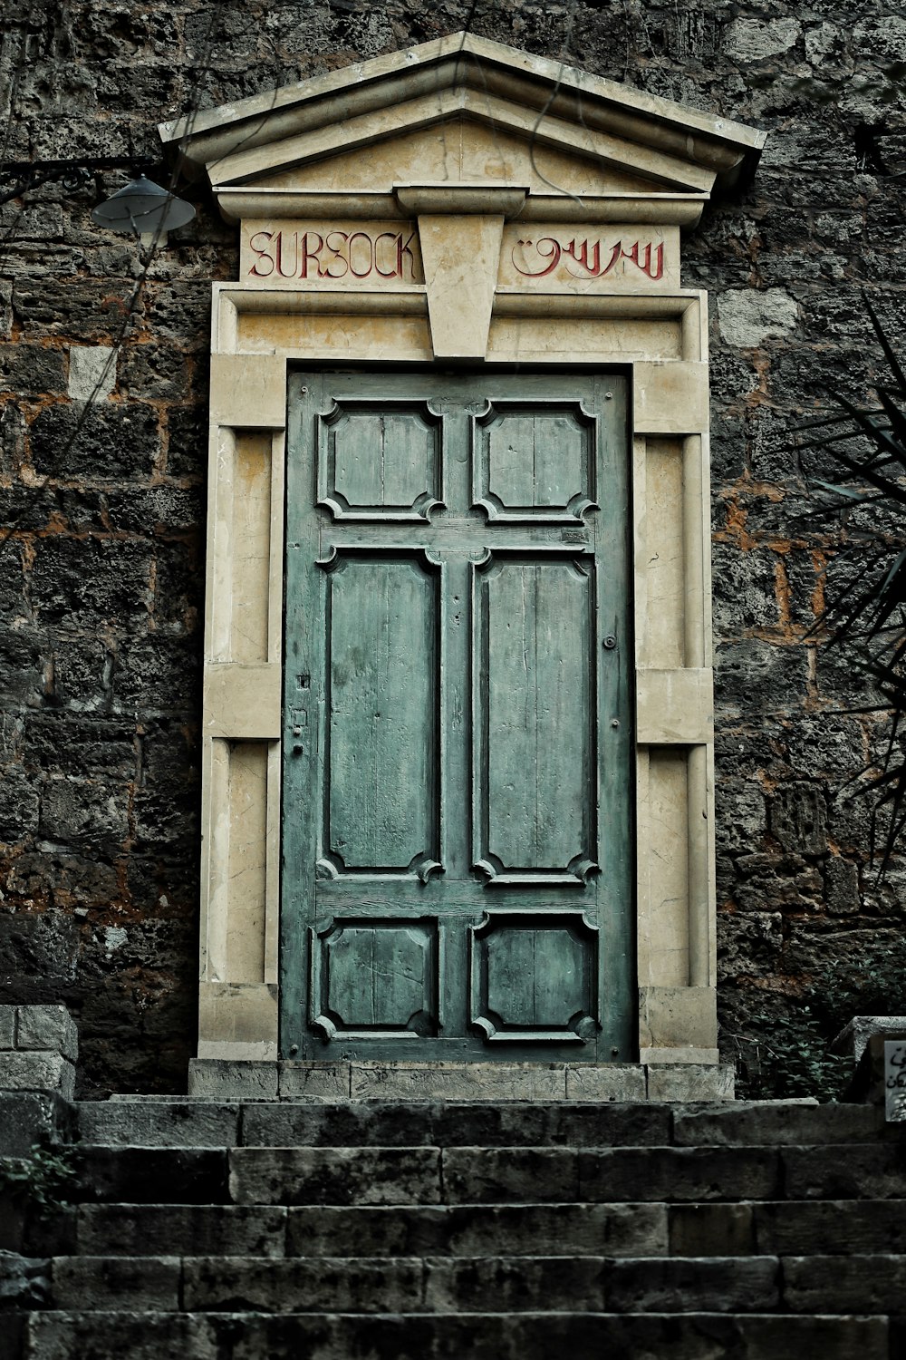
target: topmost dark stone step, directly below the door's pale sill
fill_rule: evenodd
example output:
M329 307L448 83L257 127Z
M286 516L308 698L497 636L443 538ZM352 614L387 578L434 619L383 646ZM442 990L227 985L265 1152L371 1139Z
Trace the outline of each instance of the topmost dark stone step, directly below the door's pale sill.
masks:
M79 1137L130 1146L803 1146L906 1141L873 1106L562 1102L399 1103L88 1100Z

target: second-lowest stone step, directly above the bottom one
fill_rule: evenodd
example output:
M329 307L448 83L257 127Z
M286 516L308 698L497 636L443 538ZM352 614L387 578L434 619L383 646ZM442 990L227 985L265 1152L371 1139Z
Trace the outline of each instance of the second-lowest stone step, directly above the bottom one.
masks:
M891 1278L880 1311L896 1302L903 1270L872 1261ZM0 1257L8 1307L81 1312L520 1312L545 1299L592 1312L770 1312L784 1303L781 1282L776 1257ZM820 1311L850 1310L831 1300Z

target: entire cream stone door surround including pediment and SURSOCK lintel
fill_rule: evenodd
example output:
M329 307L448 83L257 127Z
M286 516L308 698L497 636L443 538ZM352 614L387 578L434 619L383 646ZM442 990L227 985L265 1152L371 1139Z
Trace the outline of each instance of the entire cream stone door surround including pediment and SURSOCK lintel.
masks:
M443 184L394 178L399 83L412 82L414 109L428 69L463 99L474 88L496 99L494 129L513 144L534 118L512 102L528 72L541 94L524 86L526 99L547 90L562 105L564 174L576 155L572 98L576 141L598 137L583 154L594 151L604 180L623 165L636 188L551 194L465 171ZM344 154L349 129L367 125L361 173L371 165L372 180L326 192L338 90ZM481 116L456 124L466 152ZM213 286L198 1057L278 1057L287 369L493 363L630 378L640 1061L717 1062L708 305L679 284L679 228L698 220L719 177L729 184L757 159L763 136L471 35L162 131L206 166L221 211L242 222L240 282ZM336 242L359 231L364 252L369 239L371 276L364 254L355 279L341 253L315 258L331 226ZM418 245L412 268L401 246L390 250L402 227ZM273 241L293 228L303 262L296 253L281 277Z

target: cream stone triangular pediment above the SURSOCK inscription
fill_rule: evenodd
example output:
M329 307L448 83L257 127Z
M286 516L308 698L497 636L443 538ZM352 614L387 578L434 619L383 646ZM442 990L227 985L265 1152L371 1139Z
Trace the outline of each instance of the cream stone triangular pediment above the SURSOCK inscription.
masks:
M455 34L162 126L230 219L295 196L363 196L393 214L406 184L518 184L557 200L659 199L690 222L751 171L765 135L513 48ZM543 204L543 208L542 208ZM617 211L617 208L614 208ZM594 215L594 214L592 214Z

